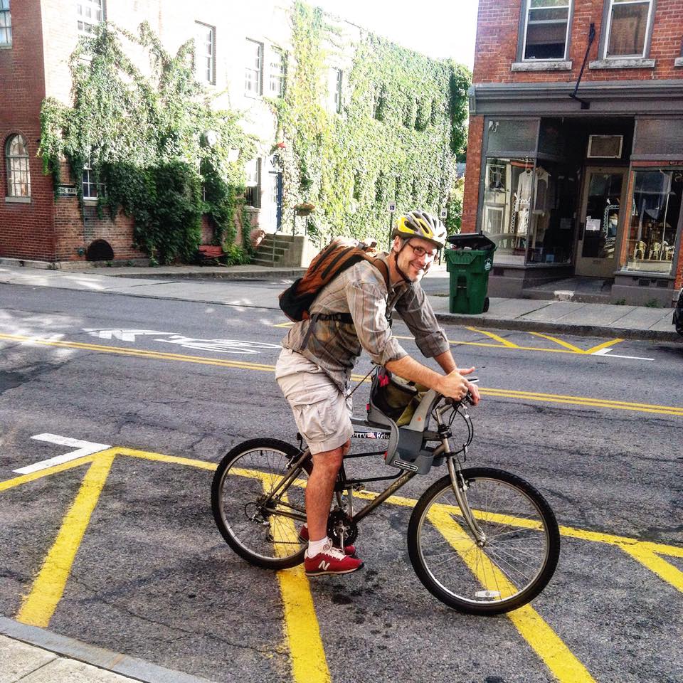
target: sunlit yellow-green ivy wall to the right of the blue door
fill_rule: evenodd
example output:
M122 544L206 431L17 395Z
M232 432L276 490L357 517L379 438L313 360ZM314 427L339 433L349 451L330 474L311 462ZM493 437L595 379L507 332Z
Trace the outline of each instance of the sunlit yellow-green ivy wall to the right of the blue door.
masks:
M467 134L470 72L431 60L371 33L344 43L321 9L292 7L292 54L285 97L275 100L286 143L285 226L293 207L316 206L312 231L356 238L388 233L388 201L398 212L448 208L460 223L462 189L455 157ZM327 69L354 53L343 75L341 112L330 112Z

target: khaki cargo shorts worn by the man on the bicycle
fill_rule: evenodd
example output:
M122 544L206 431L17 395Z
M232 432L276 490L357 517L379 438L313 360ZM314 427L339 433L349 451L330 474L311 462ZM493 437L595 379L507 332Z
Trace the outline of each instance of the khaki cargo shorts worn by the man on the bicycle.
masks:
M346 398L312 361L296 351L282 349L275 365L275 379L312 453L339 448L353 436L351 398Z

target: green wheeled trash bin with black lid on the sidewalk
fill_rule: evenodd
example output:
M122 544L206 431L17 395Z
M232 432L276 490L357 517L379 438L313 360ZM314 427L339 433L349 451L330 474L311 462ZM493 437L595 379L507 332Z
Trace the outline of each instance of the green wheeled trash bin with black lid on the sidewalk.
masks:
M450 274L449 311L487 312L489 298L486 292L496 245L480 233L450 235L448 242L453 245L445 251L446 269Z

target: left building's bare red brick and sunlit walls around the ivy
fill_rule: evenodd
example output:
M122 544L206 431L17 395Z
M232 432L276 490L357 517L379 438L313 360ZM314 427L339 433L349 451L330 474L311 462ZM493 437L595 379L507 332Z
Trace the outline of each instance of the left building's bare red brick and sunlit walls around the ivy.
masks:
M243 112L243 129L258 137L256 157L240 159L247 172L245 201L252 225L275 231L282 218L282 173L272 151L277 122L265 97L280 97L284 90L289 9L290 3L274 0L196 0L191 6L180 0L0 0L0 258L48 264L144 256L132 248L131 219L119 214L112 221L106 212L98 218L101 189L90 169L74 179L64 164L55 199L52 177L43 175L37 156L41 103L55 97L70 104L70 55L80 36L90 35L100 21L131 32L147 21L170 53L195 38L196 77L217 95L217 108ZM350 39L358 36L349 23L339 28ZM142 51L131 49L129 56L144 69ZM349 61L339 53L328 65L328 110L341 106ZM76 183L82 184L83 206ZM210 239L205 221L203 241Z

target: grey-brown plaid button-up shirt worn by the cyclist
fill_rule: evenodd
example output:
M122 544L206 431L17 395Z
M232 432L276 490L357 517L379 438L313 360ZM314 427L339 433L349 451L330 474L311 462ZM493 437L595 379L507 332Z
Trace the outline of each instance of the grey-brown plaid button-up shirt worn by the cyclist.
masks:
M408 355L391 334L387 312L393 309L408 325L423 355L433 358L448 350L445 332L419 283L401 281L387 291L381 273L368 261L356 263L323 287L310 311L350 313L354 324L303 320L290 329L282 346L315 363L346 393L363 349L381 366Z

